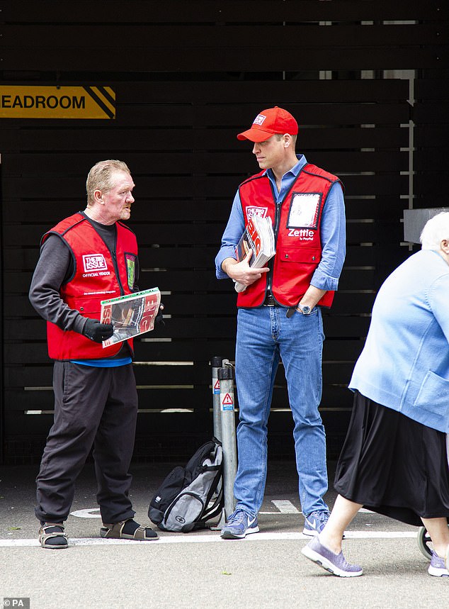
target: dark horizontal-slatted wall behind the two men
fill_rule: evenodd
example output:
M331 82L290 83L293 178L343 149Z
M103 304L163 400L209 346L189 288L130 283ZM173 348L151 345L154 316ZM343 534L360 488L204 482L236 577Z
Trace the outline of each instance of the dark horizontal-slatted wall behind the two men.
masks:
M0 120L5 461L38 458L52 419L45 323L27 297L38 242L84 208L86 174L104 158L130 166L140 287L159 286L166 312L165 328L137 341L135 459L185 457L210 435L209 360L233 359L235 333L232 284L215 279L214 257L234 191L258 170L235 135L273 105L297 117L307 160L346 186L348 255L324 319L322 415L336 454L375 292L409 255L401 220L412 189L415 206L437 206L429 188L447 204L432 179L448 146L446 4L0 0L0 8L0 84L106 85L117 99L113 121ZM292 454L287 408L280 371L270 423L278 456Z

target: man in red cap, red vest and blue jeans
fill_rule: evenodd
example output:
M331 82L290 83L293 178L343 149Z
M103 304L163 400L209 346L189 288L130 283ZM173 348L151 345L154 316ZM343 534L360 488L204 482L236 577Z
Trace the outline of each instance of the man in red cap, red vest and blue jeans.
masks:
M329 518L322 397L321 308L331 306L346 254L343 190L339 178L296 155L298 126L283 108L259 113L239 140L254 143L261 172L240 184L215 259L218 279L246 286L237 297L235 357L239 465L237 505L224 539L258 531L266 484L267 425L280 359L285 369L303 533L318 535ZM235 247L250 218L271 218L276 253L268 267L237 262ZM284 406L284 405L282 405Z

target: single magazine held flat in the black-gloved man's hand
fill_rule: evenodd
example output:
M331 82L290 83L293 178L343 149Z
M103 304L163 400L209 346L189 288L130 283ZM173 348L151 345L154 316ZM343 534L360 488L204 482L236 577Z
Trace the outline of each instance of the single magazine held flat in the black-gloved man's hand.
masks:
M152 330L160 304L159 288L101 301L101 323L112 323L114 326L113 335L103 340L103 347Z

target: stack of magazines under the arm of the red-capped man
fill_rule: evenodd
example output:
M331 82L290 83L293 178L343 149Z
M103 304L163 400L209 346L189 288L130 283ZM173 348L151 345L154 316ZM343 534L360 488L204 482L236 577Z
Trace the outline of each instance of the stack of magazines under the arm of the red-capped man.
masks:
M268 260L273 258L276 250L271 218L251 217L235 248L237 262L241 262L249 250L253 252L249 260L249 266L255 269L265 267ZM236 292L242 292L246 289L246 286L239 284L238 281L235 282L234 287Z

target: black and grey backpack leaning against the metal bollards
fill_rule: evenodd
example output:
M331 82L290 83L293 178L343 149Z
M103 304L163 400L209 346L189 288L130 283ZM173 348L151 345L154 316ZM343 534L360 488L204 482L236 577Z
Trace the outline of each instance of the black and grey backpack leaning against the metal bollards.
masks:
M149 503L149 519L162 531L206 528L224 505L222 458L221 442L214 437L185 467L172 469Z

